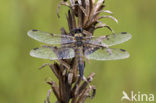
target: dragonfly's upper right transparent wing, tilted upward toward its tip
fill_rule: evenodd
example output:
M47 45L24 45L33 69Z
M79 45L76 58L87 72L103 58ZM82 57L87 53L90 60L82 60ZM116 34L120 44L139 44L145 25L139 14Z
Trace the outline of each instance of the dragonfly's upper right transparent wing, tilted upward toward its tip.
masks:
M128 41L131 38L131 34L121 32L118 34L110 34L101 37L92 37L89 43L102 46L113 46Z

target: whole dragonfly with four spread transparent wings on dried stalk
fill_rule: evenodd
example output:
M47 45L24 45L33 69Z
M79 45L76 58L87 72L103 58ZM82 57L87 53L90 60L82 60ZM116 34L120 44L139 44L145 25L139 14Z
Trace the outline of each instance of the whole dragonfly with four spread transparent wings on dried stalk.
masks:
M112 33L104 36L87 36L83 29L76 28L70 35L52 34L40 30L28 31L28 36L47 45L34 48L30 55L36 58L61 60L76 58L80 77L84 74L84 61L118 60L129 57L124 49L110 48L128 41L131 34L127 32ZM57 45L61 45L57 47Z

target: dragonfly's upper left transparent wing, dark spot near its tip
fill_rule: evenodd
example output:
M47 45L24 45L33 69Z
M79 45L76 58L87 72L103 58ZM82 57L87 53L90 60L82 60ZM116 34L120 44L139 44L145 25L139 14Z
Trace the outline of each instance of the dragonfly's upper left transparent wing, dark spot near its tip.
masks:
M39 30L30 30L28 36L46 44L65 44L74 42L72 36L50 34Z

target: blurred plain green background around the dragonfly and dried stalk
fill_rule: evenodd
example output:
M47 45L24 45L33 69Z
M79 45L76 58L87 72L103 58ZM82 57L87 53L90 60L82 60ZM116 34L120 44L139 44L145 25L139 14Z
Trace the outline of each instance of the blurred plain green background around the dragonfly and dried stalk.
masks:
M64 9L56 16L59 0L0 0L0 103L43 103L50 89L45 82L56 80L48 67L38 70L48 60L29 56L41 43L29 38L27 31L39 29L60 33L67 28ZM116 47L129 51L131 57L118 61L90 61L85 75L95 72L95 99L86 103L121 103L122 91L156 94L156 1L106 0L106 8L119 23L104 19L116 32L127 31L133 38ZM95 35L110 33L97 30ZM55 97L51 96L54 103Z

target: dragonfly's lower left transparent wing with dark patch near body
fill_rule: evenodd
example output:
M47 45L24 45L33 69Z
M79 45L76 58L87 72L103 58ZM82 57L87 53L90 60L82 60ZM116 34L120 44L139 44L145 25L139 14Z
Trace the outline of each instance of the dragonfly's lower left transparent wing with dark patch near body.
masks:
M73 58L75 56L75 53L72 48L56 48L52 46L44 46L31 50L30 55L36 58L57 60Z

